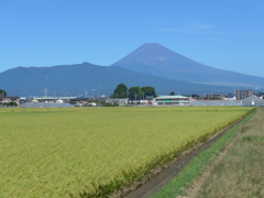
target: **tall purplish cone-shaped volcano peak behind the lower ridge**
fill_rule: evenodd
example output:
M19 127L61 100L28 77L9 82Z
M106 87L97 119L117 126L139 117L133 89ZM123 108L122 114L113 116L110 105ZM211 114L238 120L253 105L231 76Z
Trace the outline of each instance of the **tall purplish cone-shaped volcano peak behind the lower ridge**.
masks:
M169 79L228 86L264 86L263 77L217 69L182 56L157 43L146 43L111 66Z

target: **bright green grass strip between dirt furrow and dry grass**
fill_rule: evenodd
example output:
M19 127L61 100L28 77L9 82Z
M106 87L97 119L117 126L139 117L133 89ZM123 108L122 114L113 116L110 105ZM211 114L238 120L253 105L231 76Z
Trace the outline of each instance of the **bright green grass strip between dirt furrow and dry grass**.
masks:
M227 143L238 133L239 128L248 122L255 112L249 113L239 124L227 131L211 147L197 155L174 179L151 196L151 198L175 198L175 196L184 195L184 188L202 173L210 160L224 148Z

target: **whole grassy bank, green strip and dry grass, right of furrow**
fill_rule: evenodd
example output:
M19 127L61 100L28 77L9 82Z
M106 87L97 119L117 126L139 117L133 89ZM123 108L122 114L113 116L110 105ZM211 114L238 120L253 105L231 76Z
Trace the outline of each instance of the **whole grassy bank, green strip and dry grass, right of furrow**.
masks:
M255 114L251 113L240 124L230 129L210 148L195 157L173 180L152 197L263 197L263 116L262 109ZM232 140L234 136L235 139ZM220 158L216 167L210 167L230 140L233 143L228 154ZM202 172L208 166L213 170L204 182L202 178L199 179L199 176L202 177ZM195 189L197 187L194 180L202 180L204 184L199 184L201 187Z

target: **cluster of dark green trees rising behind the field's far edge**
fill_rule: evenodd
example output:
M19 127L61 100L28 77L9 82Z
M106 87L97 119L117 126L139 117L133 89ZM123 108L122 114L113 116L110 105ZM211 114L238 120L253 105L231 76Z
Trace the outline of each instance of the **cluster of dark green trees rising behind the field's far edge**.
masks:
M156 97L154 87L131 87L128 88L124 84L119 84L113 90L111 98L130 98L130 99L145 99L146 97Z

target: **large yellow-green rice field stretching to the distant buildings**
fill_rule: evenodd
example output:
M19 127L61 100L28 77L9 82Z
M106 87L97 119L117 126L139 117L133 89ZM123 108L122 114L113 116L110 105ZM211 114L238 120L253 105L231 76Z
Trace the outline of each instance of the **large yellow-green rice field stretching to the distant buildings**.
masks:
M111 194L250 110L0 109L0 197Z

